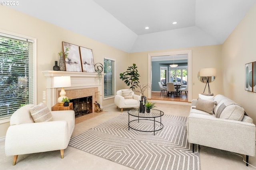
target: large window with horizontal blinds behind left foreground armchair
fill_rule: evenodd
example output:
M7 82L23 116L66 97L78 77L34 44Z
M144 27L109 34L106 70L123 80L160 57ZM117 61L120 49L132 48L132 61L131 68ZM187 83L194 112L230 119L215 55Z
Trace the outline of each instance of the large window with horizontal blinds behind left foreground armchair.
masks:
M0 119L34 104L33 40L0 33Z

